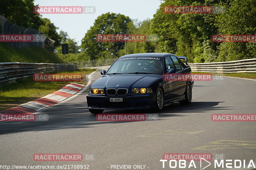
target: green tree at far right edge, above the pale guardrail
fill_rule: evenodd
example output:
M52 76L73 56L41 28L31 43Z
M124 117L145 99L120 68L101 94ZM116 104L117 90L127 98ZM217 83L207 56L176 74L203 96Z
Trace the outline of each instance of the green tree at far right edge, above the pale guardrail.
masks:
M256 34L256 1L231 0L230 4L221 3L226 12L217 16L218 34ZM232 61L255 58L255 43L219 43L217 61Z

